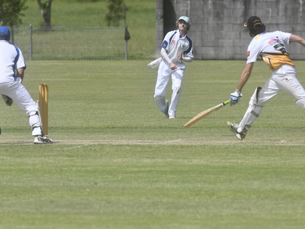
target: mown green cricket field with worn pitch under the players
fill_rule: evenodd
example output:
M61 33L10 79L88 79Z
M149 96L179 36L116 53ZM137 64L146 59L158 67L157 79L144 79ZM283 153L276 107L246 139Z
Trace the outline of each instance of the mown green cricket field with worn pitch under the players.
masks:
M34 100L49 85L49 137L34 145L26 114L0 103L0 228L303 228L304 110L286 92L245 140L239 122L271 71L262 62L226 106L245 61L186 63L177 119L164 118L149 61L27 61ZM294 61L305 85L304 61ZM168 85L167 98L171 96Z

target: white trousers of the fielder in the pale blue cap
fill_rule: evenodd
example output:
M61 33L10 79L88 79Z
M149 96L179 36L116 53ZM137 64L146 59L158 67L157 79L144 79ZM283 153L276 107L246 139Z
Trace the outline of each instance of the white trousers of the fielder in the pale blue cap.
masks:
M163 60L160 63L158 70L158 78L155 88L155 95L154 95L157 107L160 109L160 111L164 113L167 108L165 103L166 87L171 77L173 83L172 84L173 94L168 109L169 115L176 114L178 102L181 95L181 83L182 83L183 72L185 71L185 65L183 64L183 62L181 63L175 62L174 64L177 65L177 69L171 70L170 65L165 60Z

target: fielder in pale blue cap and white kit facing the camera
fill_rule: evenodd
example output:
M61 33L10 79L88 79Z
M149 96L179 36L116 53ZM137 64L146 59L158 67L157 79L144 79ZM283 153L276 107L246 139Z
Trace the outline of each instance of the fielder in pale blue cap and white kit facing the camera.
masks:
M190 28L189 18L181 16L176 21L178 30L170 31L165 36L162 48L162 62L159 65L158 78L155 88L155 101L157 107L165 114L166 118L176 118L176 110L181 95L181 82L185 71L185 62L192 62L192 40L186 31ZM172 90L170 106L165 100L167 83L172 78Z

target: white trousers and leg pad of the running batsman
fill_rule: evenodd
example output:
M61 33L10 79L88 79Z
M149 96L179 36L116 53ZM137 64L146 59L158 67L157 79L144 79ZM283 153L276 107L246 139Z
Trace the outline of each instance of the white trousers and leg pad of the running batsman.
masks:
M260 115L264 104L282 90L287 91L296 99L296 104L305 109L305 90L297 79L296 68L285 64L272 72L261 90L255 90L237 131L241 132L244 128L249 130Z

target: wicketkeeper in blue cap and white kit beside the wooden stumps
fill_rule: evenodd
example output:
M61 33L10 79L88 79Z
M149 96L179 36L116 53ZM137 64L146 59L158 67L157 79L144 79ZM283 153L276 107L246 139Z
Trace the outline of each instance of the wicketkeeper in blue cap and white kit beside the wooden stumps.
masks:
M42 124L39 122L38 107L25 87L21 84L26 64L21 50L9 41L9 28L0 27L0 94L8 106L13 101L26 111L32 127L34 144L48 144L53 141L42 133ZM1 134L1 131L0 131Z

